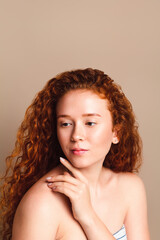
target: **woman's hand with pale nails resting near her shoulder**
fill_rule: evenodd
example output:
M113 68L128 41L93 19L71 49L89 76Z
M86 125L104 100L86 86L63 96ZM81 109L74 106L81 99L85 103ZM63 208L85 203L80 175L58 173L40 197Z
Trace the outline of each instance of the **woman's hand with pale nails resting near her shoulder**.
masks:
M77 221L87 221L93 212L88 181L67 160L60 158L60 161L72 175L65 172L64 175L49 177L46 179L49 182L48 187L54 192L63 193L70 199L73 216Z

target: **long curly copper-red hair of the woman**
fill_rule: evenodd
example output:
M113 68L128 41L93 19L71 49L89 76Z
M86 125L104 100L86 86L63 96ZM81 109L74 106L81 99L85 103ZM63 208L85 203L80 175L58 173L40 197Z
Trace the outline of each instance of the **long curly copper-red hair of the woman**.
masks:
M114 172L137 172L141 165L138 126L131 103L121 87L97 69L79 69L57 75L47 82L26 110L15 148L6 158L0 202L4 240L11 239L15 211L26 191L59 164L60 156L65 157L57 139L56 105L61 96L74 89L88 89L108 100L119 143L111 145L104 167Z

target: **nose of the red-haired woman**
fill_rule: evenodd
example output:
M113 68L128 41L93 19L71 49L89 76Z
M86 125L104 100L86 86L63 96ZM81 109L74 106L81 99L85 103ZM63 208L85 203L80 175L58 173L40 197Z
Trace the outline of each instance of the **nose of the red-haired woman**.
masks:
M85 131L81 124L75 124L72 134L71 134L71 141L83 141L85 139Z

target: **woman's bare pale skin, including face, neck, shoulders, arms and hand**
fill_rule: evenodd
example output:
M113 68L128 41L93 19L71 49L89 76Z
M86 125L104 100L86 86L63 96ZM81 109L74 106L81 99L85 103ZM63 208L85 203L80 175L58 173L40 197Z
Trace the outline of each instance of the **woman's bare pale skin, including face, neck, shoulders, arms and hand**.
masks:
M89 90L65 94L57 104L57 136L66 159L25 194L12 240L114 240L123 224L128 240L149 240L141 179L103 167L119 141L107 100Z

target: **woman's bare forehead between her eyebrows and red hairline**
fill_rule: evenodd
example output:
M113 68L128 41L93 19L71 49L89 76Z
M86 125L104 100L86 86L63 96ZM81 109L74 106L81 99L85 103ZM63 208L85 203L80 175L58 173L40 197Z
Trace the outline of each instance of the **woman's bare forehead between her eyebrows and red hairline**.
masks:
M73 114L75 112L92 113L108 110L107 99L102 99L97 93L87 89L76 89L63 95L58 103L57 114Z

